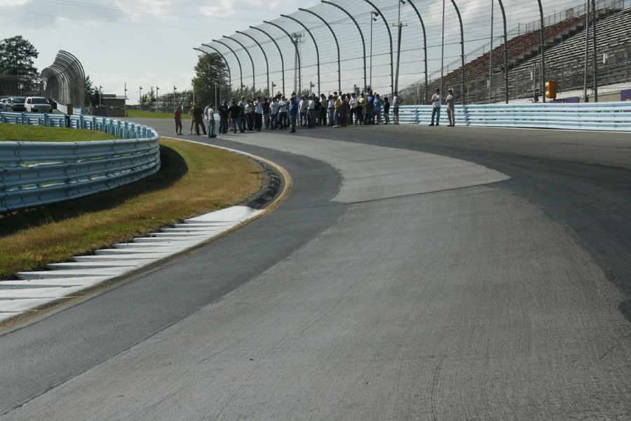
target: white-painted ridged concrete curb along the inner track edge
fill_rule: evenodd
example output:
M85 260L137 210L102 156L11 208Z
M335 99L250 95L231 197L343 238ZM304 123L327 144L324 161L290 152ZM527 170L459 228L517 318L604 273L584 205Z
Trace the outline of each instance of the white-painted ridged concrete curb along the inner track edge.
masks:
M233 206L184 220L161 232L134 239L133 243L96 250L95 255L76 256L74 262L48 265L51 270L20 272L20 281L0 281L0 321L180 253L260 212L247 206Z

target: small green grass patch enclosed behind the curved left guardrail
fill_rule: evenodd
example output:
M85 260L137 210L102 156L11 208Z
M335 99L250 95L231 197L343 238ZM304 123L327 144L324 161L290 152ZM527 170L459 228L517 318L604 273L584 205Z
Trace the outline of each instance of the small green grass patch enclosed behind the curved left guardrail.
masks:
M13 142L87 142L89 140L111 140L114 135L76 128L22 126L0 123L0 141Z

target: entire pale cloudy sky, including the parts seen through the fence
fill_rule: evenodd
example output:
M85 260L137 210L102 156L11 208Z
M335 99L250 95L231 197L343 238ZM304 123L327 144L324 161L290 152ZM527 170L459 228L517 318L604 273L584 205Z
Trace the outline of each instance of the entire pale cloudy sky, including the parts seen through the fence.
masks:
M389 26L392 26L397 19L398 2L374 1L382 5L381 10L390 20ZM502 31L497 1L457 1L461 5L465 21L468 58L475 57L469 55L470 51L490 40L492 1L495 4L494 45L497 45L501 42L498 36ZM447 1L446 10L445 53L441 52L440 46L442 1L418 0L414 3L425 16L429 48L428 73L440 69L442 55L445 56L445 65L449 62L459 65L459 25L450 2ZM537 3L534 0L504 0L503 3L507 9L509 30L519 22L532 22L538 18ZM344 0L344 4L353 12L367 36L370 8L367 8L365 1ZM550 15L565 13L572 6L584 4L584 0L543 0L543 4L545 15ZM298 8L316 5L318 6L313 8L314 11L330 13L333 10L332 6L320 4L319 0L0 0L0 39L22 35L30 41L39 51L35 66L40 72L53 64L57 51L68 51L79 58L86 75L90 76L95 86L102 86L103 93L123 95L126 83L128 103L135 104L139 98L140 86L142 93L147 93L152 86L158 86L159 94L172 92L174 86L178 91L191 88L199 54L194 48L201 44L212 39L221 39L223 35L232 35L236 30L246 30L250 25L260 25L264 20L274 20L281 13L291 14L297 12ZM344 64L341 74L341 79L348 85L343 86L344 90L350 90L354 83L361 84L363 54L355 27L345 16L340 13L337 15L337 20L333 22L332 19L331 24L341 36L341 54L346 58L355 58ZM329 52L328 55L325 54L322 58L321 90L327 93L337 86L337 64L331 54L335 48L333 39L316 18L305 15L304 20L308 21L310 27L316 27L320 48L328 48L325 50ZM407 25L402 29L404 36L400 70L400 87L405 87L423 76L423 53L419 50L422 33L419 20L409 6L403 6L401 20ZM391 84L390 59L388 53L385 53L389 43L384 22L374 22L374 25L376 80L373 86L386 91ZM293 30L295 29L290 29ZM392 33L396 43L397 29L393 28ZM275 36L280 39L283 35L276 31ZM252 45L252 41L246 42L247 45ZM275 47L270 44L266 48ZM313 82L316 77L313 43L306 42L301 48L304 48L304 62L312 62L304 69L303 79L305 83ZM252 51L257 65L263 60L260 54L260 50L258 53ZM231 60L233 58L229 58ZM245 62L243 65L244 74L251 74L251 67L250 70L247 69L250 63ZM236 62L230 62L230 66L233 67L233 84L238 83L235 81ZM292 66L293 60L289 64L285 62L285 67L291 73ZM280 79L278 72L272 77L276 82ZM262 76L259 74L257 78L257 84L261 83ZM244 83L249 82L244 80Z

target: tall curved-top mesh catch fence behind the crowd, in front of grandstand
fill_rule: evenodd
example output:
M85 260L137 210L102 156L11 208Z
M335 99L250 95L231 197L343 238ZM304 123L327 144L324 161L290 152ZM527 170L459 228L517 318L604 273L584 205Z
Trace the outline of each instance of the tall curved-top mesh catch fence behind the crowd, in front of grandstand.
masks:
M255 28L238 29L249 36L226 34L243 45L222 38L208 41L200 49L219 51L229 65L233 90L243 86L247 93L332 93L340 88L351 92L371 86L384 96L398 87L406 103L424 104L435 87L444 86L454 88L458 102L501 102L507 91L504 23L498 3L325 1L307 11L290 11ZM571 95L581 91L578 96L584 96L585 79L590 88L588 96L594 81L596 86L613 85L605 91L619 93L631 88L627 48L631 39L631 0L596 0L597 72L593 72L592 42L585 48L585 0L543 0L543 64L538 1L503 0L502 6L506 11L510 100L542 98L544 70L545 79L557 80L559 91ZM463 21L462 32L456 8ZM587 28L591 37L591 22ZM231 49L221 43L229 44Z

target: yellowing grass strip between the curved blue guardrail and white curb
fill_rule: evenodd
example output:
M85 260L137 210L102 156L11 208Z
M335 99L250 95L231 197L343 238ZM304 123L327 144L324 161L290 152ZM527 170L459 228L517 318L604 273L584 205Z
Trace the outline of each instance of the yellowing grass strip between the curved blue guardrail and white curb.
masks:
M158 173L130 185L0 213L0 279L243 203L261 186L255 163L222 149L161 138L161 156Z

